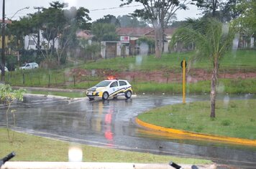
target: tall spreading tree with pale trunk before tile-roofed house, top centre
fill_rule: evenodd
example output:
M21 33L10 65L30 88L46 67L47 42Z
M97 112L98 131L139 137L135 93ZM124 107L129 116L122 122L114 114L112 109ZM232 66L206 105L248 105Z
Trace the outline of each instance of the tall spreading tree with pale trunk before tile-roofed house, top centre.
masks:
M133 0L121 0L126 3L121 6L131 4ZM155 57L160 58L164 44L164 32L166 23L169 23L178 9L187 9L190 0L134 0L140 2L144 9L136 9L133 16L142 17L149 20L155 29Z

